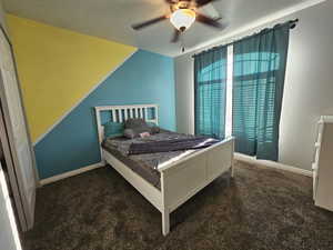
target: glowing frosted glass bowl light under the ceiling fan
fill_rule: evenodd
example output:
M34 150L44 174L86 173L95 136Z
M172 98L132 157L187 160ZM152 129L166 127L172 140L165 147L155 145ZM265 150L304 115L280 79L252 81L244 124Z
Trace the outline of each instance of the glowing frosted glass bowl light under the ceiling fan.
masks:
M178 9L170 17L170 22L180 31L189 29L194 21L195 12L191 9Z

